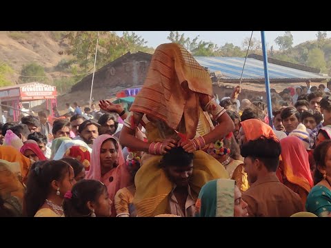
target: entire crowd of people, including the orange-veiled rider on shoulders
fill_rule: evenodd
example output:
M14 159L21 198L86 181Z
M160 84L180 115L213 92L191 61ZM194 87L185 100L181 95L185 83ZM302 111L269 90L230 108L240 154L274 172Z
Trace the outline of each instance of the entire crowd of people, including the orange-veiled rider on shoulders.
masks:
M219 99L185 48L159 45L130 111L1 125L0 216L331 216L331 81L310 83L272 90L269 123L261 98Z

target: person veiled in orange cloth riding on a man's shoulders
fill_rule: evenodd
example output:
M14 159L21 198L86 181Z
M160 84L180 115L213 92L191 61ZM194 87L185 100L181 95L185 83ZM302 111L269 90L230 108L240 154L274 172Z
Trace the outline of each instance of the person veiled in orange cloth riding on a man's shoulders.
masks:
M194 152L190 181L194 198L209 180L229 177L215 158L201 151L234 130L231 118L212 96L208 72L183 46L168 43L155 50L145 83L131 112L127 115L115 106L119 115L126 118L120 135L121 144L145 152L134 180L137 216L170 214L168 195L174 185L158 165L161 155L172 147L181 145L186 152ZM114 110L105 101L101 101L100 107L106 111ZM220 124L214 128L205 112ZM147 143L134 136L139 124L146 128Z

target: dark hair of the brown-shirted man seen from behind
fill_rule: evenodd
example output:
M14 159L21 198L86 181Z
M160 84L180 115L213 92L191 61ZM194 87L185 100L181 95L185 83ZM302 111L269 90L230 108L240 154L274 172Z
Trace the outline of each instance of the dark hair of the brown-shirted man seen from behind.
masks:
M266 138L265 136L248 141L241 147L241 156L258 158L268 169L268 172L276 172L279 165L279 155L281 155L281 144L274 138Z

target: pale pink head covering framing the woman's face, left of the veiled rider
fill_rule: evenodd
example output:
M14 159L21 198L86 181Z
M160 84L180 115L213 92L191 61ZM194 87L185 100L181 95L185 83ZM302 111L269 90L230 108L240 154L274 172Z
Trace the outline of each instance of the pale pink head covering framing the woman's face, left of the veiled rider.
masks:
M105 175L101 176L100 149L103 142L110 138L116 141L119 147L119 150L117 151L117 159L119 161L119 165L111 169L110 172L107 172ZM126 162L123 158L122 147L116 137L109 134L102 134L94 140L92 146L90 170L86 172L86 179L99 180L106 185L109 198L112 200L112 216L116 216L114 196L119 189L128 187L131 181L128 166L126 165Z

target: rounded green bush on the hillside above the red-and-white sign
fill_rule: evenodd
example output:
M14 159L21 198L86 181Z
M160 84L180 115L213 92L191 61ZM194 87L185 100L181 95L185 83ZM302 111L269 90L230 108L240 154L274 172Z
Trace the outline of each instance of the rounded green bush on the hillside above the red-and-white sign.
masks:
M41 65L37 63L28 63L24 65L21 70L21 76L19 77L20 81L23 83L30 83L30 82L45 82L47 81L45 70Z

